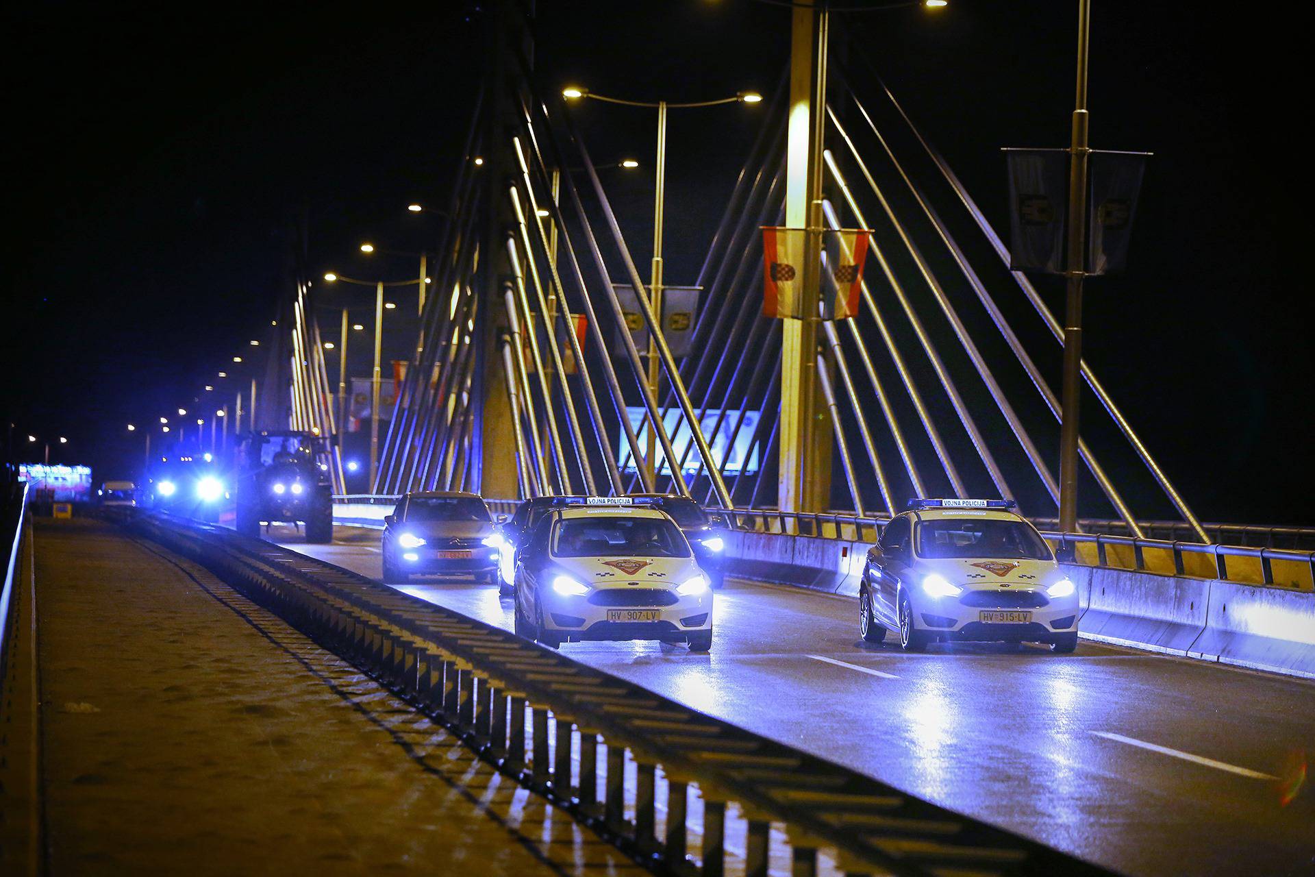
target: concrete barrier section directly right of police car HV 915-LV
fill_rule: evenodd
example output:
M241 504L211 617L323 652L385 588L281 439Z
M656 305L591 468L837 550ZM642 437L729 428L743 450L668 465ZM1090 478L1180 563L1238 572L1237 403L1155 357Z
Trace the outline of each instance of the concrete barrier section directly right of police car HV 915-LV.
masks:
M1086 610L1078 631L1088 639L1186 655L1206 628L1206 580L1069 564L1065 571L1074 584L1085 573Z

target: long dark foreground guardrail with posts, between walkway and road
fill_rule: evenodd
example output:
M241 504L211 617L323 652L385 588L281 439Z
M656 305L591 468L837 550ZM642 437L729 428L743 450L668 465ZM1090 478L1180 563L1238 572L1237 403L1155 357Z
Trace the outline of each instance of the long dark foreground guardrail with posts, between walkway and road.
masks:
M1109 873L325 561L163 515L138 513L132 526L355 661L655 870L722 877L727 807L736 803L751 876L767 873L773 824L785 827L796 874L817 873L819 849L834 849L848 874ZM692 785L704 810L697 861L686 828Z

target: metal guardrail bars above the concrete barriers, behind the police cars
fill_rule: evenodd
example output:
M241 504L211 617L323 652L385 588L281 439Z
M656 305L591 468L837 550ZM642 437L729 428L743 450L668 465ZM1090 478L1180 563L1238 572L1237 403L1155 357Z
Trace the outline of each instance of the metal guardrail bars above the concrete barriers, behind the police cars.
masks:
M335 497L335 500L352 501L352 502L396 502L398 497L373 497L373 496L352 496L352 497ZM489 509L496 513L510 513L514 511L517 501L515 500L487 500ZM778 533L782 535L796 535L796 536L814 536L819 539L840 539L852 542L876 542L881 535L881 529L886 525L889 518L877 517L857 517L844 511L778 511L776 509L719 509L710 506L706 509L709 514L726 515L730 525L738 530L747 530L751 533ZM1044 523L1039 521L1038 523ZM1099 522L1084 522L1084 523L1099 523ZM1105 522L1116 523L1116 522ZM1306 533L1315 534L1315 529L1307 527L1266 527L1266 526L1251 526L1251 525L1218 525L1210 523L1205 525L1207 529L1233 529L1237 531L1248 531L1256 534L1270 534L1270 536L1282 534L1290 536L1304 536ZM1220 581L1232 581L1237 584L1258 584L1268 586L1282 586L1277 585L1274 580L1274 561L1295 563L1307 568L1312 588L1315 588L1315 551L1308 550L1295 550L1295 548L1274 548L1274 547L1253 547L1253 546L1230 546L1230 544L1203 544L1199 542L1182 542L1177 539L1136 539L1134 536L1122 536L1105 533L1056 533L1051 530L1041 530L1041 535L1049 542L1059 546L1060 548L1065 546L1080 546L1090 544L1095 546L1095 567L1109 567L1115 569L1135 569L1135 571L1149 571L1147 565L1147 552L1148 551L1164 551L1169 554L1173 559L1174 575L1184 576L1189 575L1186 571L1186 563L1184 561L1184 555L1203 555L1212 559L1212 572L1214 577ZM1122 567L1118 563L1111 563L1110 547L1126 547L1132 550L1132 567ZM1257 560L1260 563L1260 581L1251 580L1248 577L1239 577L1236 575L1230 575L1228 572L1228 557L1245 557L1251 560ZM1074 555L1074 563L1082 563L1082 560Z

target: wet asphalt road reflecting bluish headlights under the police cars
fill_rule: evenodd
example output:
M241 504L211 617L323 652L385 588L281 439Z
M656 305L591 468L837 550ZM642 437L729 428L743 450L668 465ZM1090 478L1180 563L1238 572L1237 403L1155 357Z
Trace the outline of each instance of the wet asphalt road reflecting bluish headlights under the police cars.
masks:
M377 579L379 531L291 548ZM734 568L731 568L734 576ZM512 628L490 585L400 588ZM731 580L710 655L563 653L911 794L1130 874L1315 874L1315 682L1082 642L905 655L859 638L852 598Z

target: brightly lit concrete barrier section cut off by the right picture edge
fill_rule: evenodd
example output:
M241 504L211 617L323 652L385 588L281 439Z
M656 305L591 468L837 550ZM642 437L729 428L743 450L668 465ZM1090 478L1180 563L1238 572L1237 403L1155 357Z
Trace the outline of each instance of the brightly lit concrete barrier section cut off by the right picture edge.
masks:
M1315 594L1210 581L1191 657L1315 678Z

